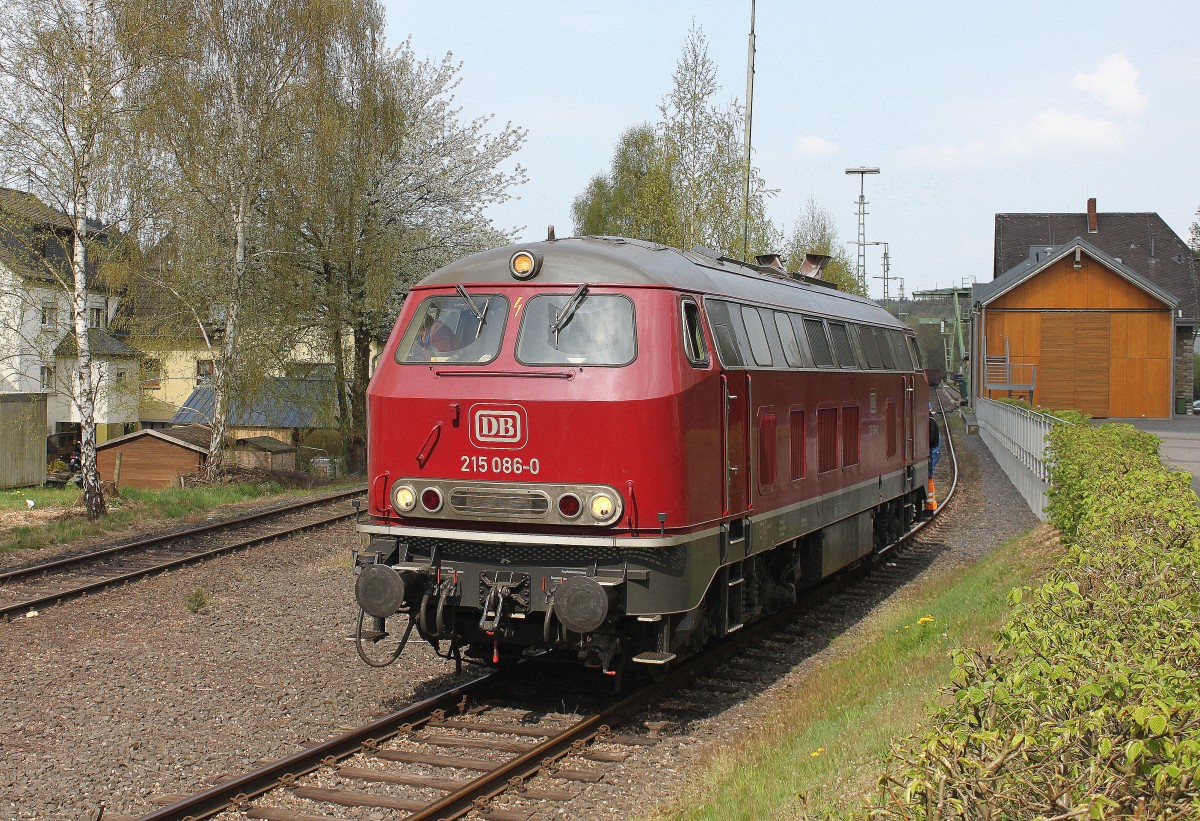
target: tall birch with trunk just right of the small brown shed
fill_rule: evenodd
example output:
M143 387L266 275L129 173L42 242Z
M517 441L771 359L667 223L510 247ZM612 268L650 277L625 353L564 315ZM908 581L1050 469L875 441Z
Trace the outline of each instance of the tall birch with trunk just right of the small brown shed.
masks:
M146 137L160 152L178 206L172 220L176 293L214 347L215 409L206 475L220 475L230 388L247 335L270 336L282 316L269 265L277 248L263 215L283 194L311 115L307 77L330 41L355 31L354 0L168 0L160 48L172 59L152 77ZM188 260L188 264L182 264ZM203 293L206 304L194 295ZM256 311L254 308L263 308ZM264 328L264 323L266 326Z

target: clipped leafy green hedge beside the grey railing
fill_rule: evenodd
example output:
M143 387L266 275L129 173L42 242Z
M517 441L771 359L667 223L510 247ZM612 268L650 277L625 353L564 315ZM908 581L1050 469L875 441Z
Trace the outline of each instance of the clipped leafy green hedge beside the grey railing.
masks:
M872 819L1200 817L1200 507L1128 425L1050 435L1066 547L896 744Z

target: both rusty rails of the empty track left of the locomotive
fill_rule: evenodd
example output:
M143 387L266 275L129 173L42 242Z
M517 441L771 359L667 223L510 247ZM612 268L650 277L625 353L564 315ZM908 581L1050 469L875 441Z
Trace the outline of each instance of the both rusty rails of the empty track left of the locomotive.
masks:
M146 550L155 545L167 544L170 541L179 541L182 539L190 539L196 535L203 535L214 531L232 529L239 526L264 521L271 517L281 516L288 513L296 513L305 508L313 508L320 504L328 504L330 502L337 502L344 497L352 497L361 495L364 489L346 491L341 493L334 493L320 499L308 499L307 502L289 504L282 508L275 508L268 511L259 511L257 514L240 516L238 519L224 520L214 525L205 525L198 528L191 528L180 533L163 537L154 537L151 539L144 539L142 541L130 543L121 545L119 547L109 547L101 551L95 551L91 553L85 553L83 556L76 556L67 559L59 559L56 562L47 562L46 564L40 564L34 568L25 568L24 570L12 570L6 574L0 575L0 587L6 583L18 582L23 579L32 577L46 577L52 576L50 570L62 570L64 568L71 567L84 567L89 563L96 562L103 557L119 555L119 553L132 553L138 550ZM242 539L240 541L234 541L232 544L220 545L217 547L211 547L200 552L188 553L186 556L179 556L164 562L157 562L146 568L139 568L137 570L131 570L128 573L121 573L115 576L108 576L97 581L88 582L86 585L79 585L76 587L67 588L65 591L59 591L52 594L35 597L31 599L23 599L12 604L0 604L0 622L10 621L14 616L19 616L23 612L29 612L31 610L38 610L41 607L48 607L50 605L59 604L67 599L73 599L78 597L86 595L89 593L95 593L108 587L115 587L118 585L125 585L131 581L137 581L146 576L152 576L155 574L162 573L164 570L170 570L174 568L182 568L190 564L197 564L206 559L214 558L216 556L223 556L226 553L232 553L239 550L245 550L247 547L253 547L254 545L269 541L271 539L277 539L282 535L288 535L293 533L304 533L318 527L324 527L326 525L332 525L347 519L352 519L355 515L353 510L346 513L338 513L332 516L325 516L317 521L305 522L299 526L284 527L281 529L271 531L270 533L262 533L250 539Z

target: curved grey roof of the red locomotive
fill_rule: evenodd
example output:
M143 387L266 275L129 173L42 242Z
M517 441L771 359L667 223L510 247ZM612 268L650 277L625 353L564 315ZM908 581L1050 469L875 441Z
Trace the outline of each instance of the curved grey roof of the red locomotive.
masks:
M731 296L751 302L809 311L877 325L906 328L874 301L788 275L772 275L762 266L720 257L697 246L680 251L656 242L619 236L572 236L518 242L481 251L444 265L418 287L454 284L515 284L509 260L517 251L542 256L530 284L665 287Z

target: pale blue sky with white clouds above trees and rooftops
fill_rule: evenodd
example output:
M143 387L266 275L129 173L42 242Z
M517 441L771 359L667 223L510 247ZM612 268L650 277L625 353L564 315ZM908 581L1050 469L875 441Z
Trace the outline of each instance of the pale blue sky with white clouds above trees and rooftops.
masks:
M461 62L462 116L528 131L528 180L498 228L574 233L571 203L620 134L654 122L692 25L719 102L745 100L750 0L385 0L388 40ZM755 6L754 163L790 233L811 198L887 242L890 295L992 278L997 212L1157 211L1184 241L1200 208L1200 4L798 2ZM739 196L732 192L731 196ZM851 258L857 247L847 246ZM866 248L882 295L882 246Z

